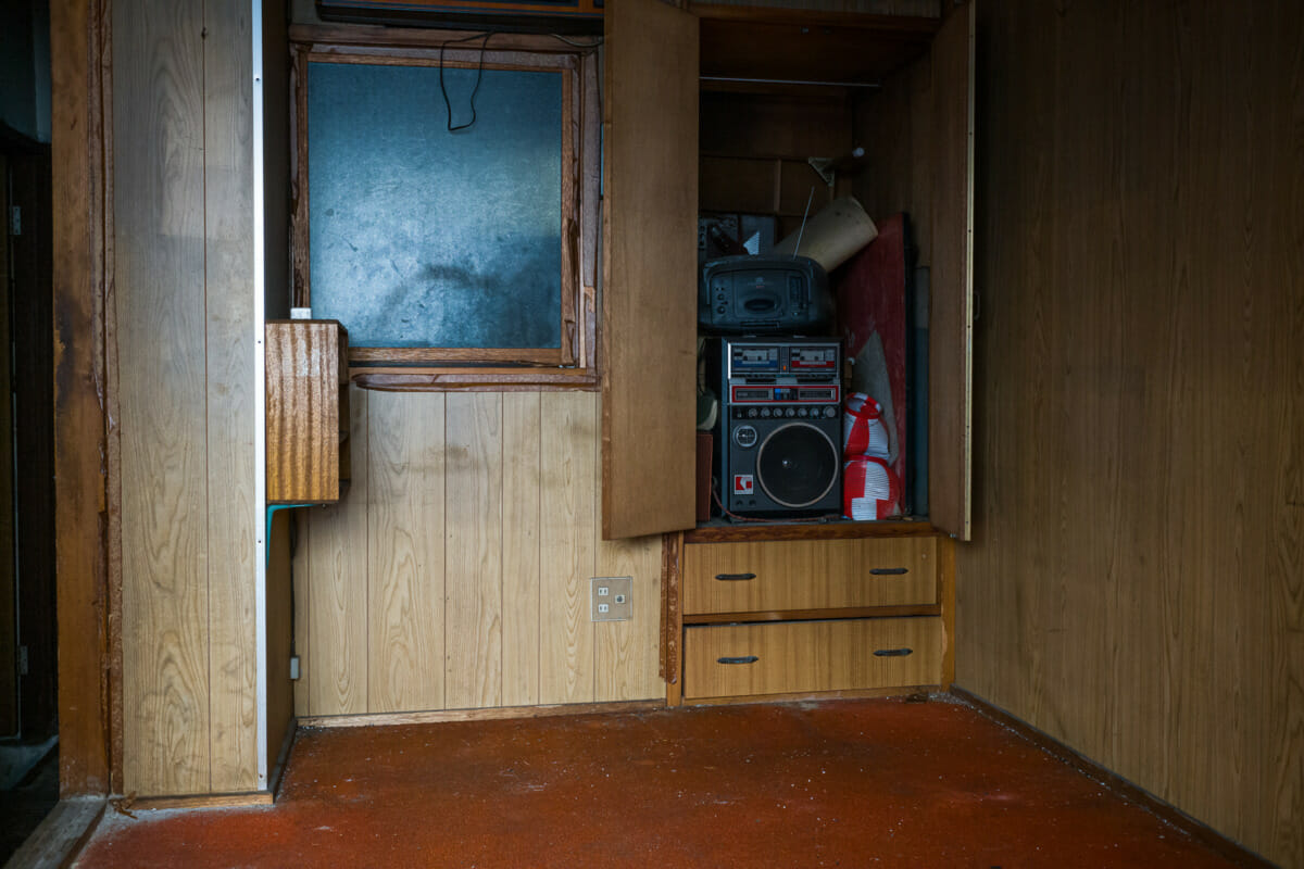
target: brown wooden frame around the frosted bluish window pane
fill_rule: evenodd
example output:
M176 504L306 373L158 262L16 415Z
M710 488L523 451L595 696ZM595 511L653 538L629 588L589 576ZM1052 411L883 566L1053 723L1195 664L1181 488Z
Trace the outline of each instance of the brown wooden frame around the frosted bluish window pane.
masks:
M310 307L308 64L438 66L441 44L473 34L342 25L296 26L289 35L293 79L291 304ZM479 42L449 44L443 51L446 66L475 69L480 63ZM559 347L351 347L349 375L360 386L387 390L597 388L599 53L596 47L580 48L550 36L496 33L484 51L484 68L562 76Z

